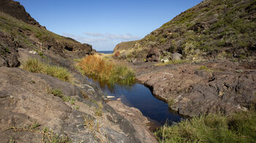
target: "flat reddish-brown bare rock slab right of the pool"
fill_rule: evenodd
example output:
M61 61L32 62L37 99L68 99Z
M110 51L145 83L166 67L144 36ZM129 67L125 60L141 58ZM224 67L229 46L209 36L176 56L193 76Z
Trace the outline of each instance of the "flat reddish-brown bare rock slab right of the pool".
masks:
M181 115L230 114L256 103L256 63L227 60L155 66L135 63L137 78Z

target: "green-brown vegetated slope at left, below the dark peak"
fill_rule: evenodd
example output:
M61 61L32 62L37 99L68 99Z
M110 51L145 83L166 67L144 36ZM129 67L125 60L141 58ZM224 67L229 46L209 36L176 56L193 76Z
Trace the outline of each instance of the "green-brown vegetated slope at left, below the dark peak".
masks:
M24 23L4 12L0 12L0 32L12 36L14 42L18 43L20 47L31 50L40 50L40 43L42 43L43 50L53 50L57 53L63 53L64 50L73 51L74 48L87 50L87 52L91 50L91 45L82 45L74 39L59 36L45 28ZM7 48L4 43L2 45Z

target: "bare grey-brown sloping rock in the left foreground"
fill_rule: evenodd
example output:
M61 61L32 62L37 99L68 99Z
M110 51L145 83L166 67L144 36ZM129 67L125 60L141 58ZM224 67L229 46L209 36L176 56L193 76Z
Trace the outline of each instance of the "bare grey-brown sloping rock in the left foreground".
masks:
M1 142L42 142L45 128L72 142L143 142L132 123L105 104L97 86L79 75L75 78L81 82L72 85L45 74L0 67ZM61 90L70 100L53 96L49 88ZM97 116L100 106L102 116Z

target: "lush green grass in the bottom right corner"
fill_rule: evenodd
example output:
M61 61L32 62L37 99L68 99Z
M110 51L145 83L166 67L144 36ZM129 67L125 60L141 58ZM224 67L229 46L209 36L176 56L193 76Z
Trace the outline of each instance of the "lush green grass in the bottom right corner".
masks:
M255 142L256 114L238 112L226 117L214 114L193 117L154 134L159 142Z

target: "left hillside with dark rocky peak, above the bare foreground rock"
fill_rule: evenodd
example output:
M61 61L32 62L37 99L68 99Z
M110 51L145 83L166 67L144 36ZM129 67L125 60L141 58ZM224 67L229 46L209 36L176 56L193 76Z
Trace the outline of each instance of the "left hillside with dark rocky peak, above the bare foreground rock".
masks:
M18 48L64 60L82 58L92 51L91 45L81 44L42 28L18 2L0 1L0 11L0 66L18 66Z

